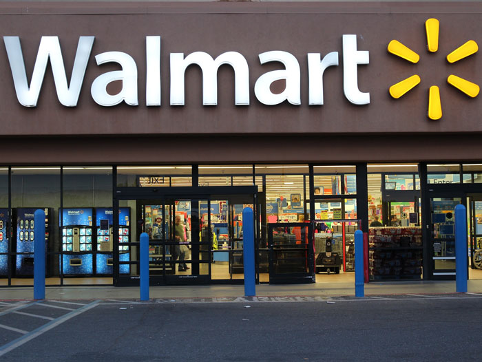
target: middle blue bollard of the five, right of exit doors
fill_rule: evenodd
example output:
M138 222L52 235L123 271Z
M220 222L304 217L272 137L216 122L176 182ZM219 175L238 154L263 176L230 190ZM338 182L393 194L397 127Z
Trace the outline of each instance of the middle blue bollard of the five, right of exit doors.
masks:
M254 297L255 273L254 273L254 222L253 209L245 207L242 211L242 253L244 260L244 296Z

